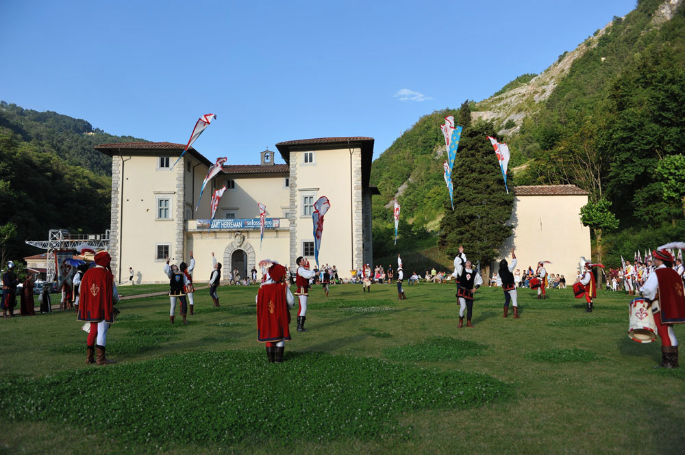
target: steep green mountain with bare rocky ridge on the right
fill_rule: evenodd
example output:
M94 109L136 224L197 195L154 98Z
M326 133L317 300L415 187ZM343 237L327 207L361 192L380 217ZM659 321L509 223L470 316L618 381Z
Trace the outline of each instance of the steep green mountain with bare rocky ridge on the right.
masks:
M621 235L655 220L680 226L682 207L664 200L654 171L663 157L685 150L684 68L683 0L639 0L540 75L521 75L469 103L471 119L491 122L509 144L512 184L571 183L590 200L608 198ZM449 114L456 111L423 116L373 162L371 183L381 191L373 205L374 250L376 234L392 225L385 205L393 196L410 229L436 229L449 197L438 127ZM388 253L386 244L378 246Z

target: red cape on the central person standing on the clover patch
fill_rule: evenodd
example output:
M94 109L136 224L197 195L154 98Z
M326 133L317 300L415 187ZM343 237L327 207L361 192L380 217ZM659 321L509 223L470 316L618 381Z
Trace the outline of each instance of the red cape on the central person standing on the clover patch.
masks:
M286 300L286 284L262 285L257 293L257 340L290 339L290 311Z

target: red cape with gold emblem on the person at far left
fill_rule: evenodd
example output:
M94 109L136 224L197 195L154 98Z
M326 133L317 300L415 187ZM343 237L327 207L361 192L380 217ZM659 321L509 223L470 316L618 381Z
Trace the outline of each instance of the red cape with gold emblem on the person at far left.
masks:
M88 269L81 280L79 321L114 322L112 272L101 267Z

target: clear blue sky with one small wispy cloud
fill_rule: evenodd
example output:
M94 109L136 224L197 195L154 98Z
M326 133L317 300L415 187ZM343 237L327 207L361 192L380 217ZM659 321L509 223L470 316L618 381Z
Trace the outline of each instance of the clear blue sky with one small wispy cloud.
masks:
M635 0L1 1L0 99L116 135L259 161L286 140L365 135L487 98Z

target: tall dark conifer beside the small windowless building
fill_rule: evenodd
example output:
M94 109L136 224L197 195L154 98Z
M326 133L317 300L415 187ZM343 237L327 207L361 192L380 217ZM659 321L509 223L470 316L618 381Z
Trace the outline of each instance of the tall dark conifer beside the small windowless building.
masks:
M464 128L452 170L454 210L445 204L440 221L440 247L449 257L464 246L466 257L489 268L501 246L512 235L509 224L514 194L507 194L502 173L487 136L495 136L491 122Z

